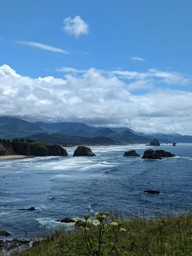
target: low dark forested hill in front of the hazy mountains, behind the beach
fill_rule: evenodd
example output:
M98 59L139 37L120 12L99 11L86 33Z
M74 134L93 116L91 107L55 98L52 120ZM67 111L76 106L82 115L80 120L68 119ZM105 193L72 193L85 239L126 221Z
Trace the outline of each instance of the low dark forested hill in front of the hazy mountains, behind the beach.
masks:
M86 146L86 145L122 145L124 143L121 143L119 141L112 140L110 138L106 137L94 137L94 138L87 138L87 137L79 137L79 136L70 136L65 135L61 133L54 133L54 134L48 134L48 133L39 133L39 134L33 134L30 136L27 136L28 139L34 140L34 141L43 141L46 143L53 143L53 144L59 144L64 147L68 146ZM26 139L24 137L24 139Z

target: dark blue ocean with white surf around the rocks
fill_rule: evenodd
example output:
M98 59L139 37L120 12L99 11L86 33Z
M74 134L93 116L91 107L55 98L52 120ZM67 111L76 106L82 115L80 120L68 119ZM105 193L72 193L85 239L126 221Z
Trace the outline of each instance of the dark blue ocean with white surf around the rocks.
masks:
M0 230L23 238L25 231L35 236L54 230L54 220L113 207L148 211L174 202L191 208L192 144L152 147L177 156L163 160L122 156L131 149L142 156L147 148L92 147L95 157L73 157L75 149L67 149L68 157L0 161ZM149 189L161 193L143 192ZM30 207L36 210L18 210Z

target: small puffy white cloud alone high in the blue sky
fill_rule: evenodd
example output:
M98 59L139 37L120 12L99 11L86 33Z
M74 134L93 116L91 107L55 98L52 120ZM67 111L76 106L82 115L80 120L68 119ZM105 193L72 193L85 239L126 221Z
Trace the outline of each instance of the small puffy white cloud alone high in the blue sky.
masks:
M63 24L63 31L69 35L73 34L76 38L80 35L89 34L89 25L78 15L73 19L71 17L65 18Z

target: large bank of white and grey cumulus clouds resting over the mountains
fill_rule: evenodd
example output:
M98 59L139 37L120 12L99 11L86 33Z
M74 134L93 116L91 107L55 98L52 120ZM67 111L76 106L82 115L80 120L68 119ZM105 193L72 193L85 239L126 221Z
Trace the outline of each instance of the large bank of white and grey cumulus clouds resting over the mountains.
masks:
M138 81L140 76L136 72L135 81L126 83L118 75L95 68L78 76L73 68L65 72L64 79L53 76L33 79L17 74L7 65L1 66L0 116L127 126L143 132L190 133L186 124L192 117L192 92L167 88L136 95L129 89L155 86L154 77ZM163 80L164 76L158 79ZM173 82L176 83L176 78Z

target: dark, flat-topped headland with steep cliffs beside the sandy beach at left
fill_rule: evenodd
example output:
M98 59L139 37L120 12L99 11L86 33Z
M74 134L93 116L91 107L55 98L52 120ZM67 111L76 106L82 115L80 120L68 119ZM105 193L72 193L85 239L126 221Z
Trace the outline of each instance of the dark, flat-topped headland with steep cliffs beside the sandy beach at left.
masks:
M12 149L17 155L23 156L68 156L67 151L57 144L43 142L11 142Z

